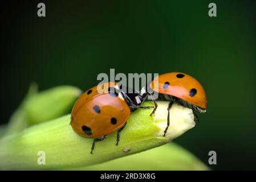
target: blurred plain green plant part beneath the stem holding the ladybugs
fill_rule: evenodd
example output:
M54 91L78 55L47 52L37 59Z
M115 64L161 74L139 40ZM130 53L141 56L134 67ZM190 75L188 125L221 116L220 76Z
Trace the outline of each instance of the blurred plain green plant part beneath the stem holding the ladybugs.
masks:
M164 146L152 148L138 154L110 160L92 166L71 168L79 171L158 171L158 170L209 170L196 156L189 151L171 142Z

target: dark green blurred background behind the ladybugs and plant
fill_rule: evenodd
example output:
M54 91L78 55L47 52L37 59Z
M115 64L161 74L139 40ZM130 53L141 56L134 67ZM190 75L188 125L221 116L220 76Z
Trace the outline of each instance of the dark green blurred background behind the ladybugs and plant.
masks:
M174 142L213 169L256 169L255 1L39 1L1 3L1 124L35 81L39 90L87 90L99 73L184 72L208 111ZM217 17L208 5L217 5Z

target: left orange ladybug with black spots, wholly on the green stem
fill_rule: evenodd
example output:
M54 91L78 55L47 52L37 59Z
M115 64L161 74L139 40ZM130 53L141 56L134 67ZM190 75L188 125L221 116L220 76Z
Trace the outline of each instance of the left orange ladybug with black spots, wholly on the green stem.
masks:
M98 86L103 88L103 93L97 92ZM147 98L145 93L125 93L116 82L98 86L84 92L71 112L70 125L73 130L82 137L94 138L91 154L95 142L104 140L108 134L116 130L118 145L120 132L124 129L131 111L153 107L140 106Z

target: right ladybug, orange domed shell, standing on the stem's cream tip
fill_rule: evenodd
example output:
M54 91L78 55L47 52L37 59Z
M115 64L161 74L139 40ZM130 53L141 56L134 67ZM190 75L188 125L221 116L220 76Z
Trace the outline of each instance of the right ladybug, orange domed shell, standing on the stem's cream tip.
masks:
M155 82L158 82L158 86L155 87ZM168 105L168 117L167 126L164 131L164 137L168 127L170 125L170 107L172 107L174 102L178 104L189 107L193 110L194 117L198 121L198 117L195 110L200 113L206 112L207 98L206 93L200 82L198 82L192 76L185 73L172 72L155 77L150 84L150 88L159 93L159 100L170 101ZM149 94L152 95L152 94ZM152 99L155 104L152 114L155 113L157 109L157 104L155 99Z

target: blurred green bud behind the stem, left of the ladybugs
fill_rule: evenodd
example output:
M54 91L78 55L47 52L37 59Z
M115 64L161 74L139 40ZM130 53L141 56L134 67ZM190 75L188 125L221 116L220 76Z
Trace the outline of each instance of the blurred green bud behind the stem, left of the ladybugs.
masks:
M74 86L55 86L37 92L37 85L31 84L22 104L11 115L5 135L17 133L27 126L35 125L68 113L82 91Z

